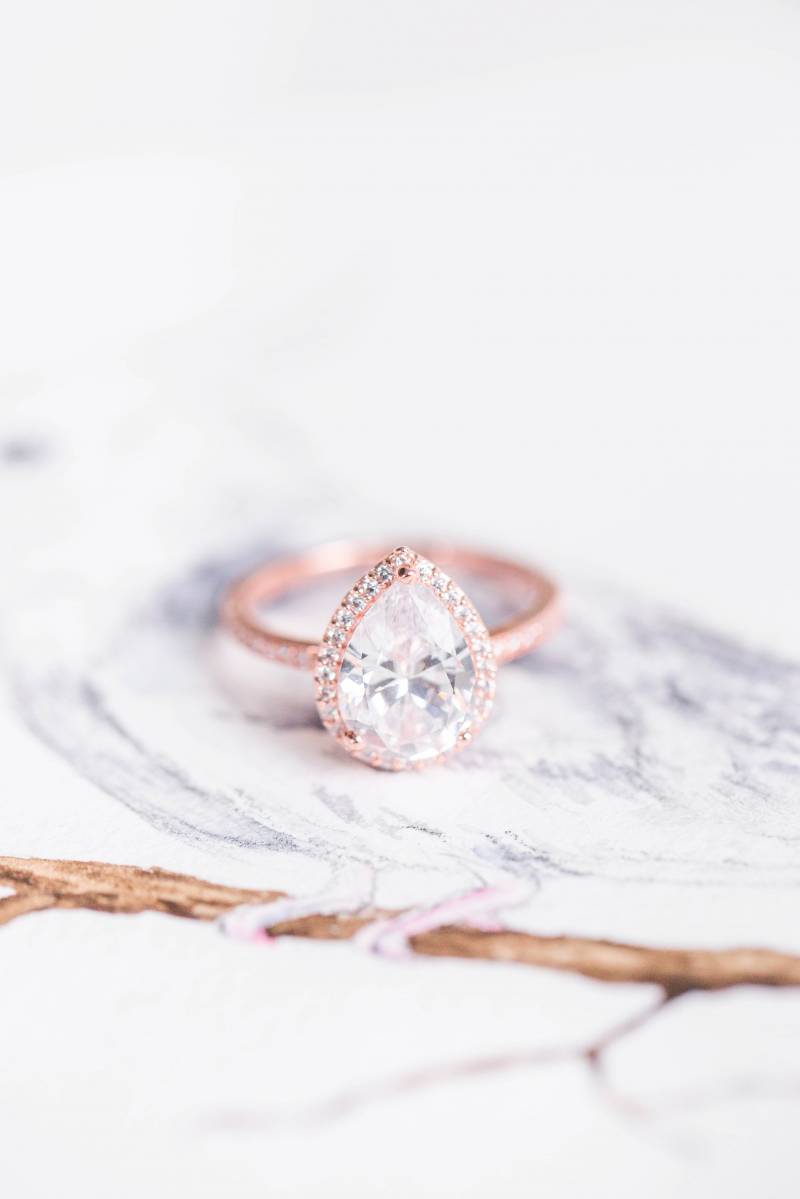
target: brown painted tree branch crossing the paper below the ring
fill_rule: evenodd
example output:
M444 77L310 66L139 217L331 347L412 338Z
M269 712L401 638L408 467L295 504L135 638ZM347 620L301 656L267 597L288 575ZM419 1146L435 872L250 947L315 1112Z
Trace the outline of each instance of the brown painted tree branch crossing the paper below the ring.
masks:
M0 923L46 908L85 908L134 914L158 911L188 920L215 920L240 904L285 898L281 891L254 891L106 862L0 857L0 886L16 894L0 899ZM399 915L369 910L359 916L303 916L270 929L273 936L347 940L375 918ZM566 970L603 982L651 983L667 995L721 990L744 983L800 986L800 957L764 948L680 950L626 945L585 936L439 928L411 939L416 953L475 958Z

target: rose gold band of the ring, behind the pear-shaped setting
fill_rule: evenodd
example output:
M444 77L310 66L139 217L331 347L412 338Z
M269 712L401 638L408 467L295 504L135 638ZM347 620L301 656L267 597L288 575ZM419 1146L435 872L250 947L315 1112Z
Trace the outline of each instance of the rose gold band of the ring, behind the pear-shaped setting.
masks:
M384 543L338 541L315 549L266 562L228 591L222 607L227 628L251 650L299 670L313 670L318 641L284 637L259 616L259 608L282 598L295 588L327 574L355 570L377 561L387 552ZM458 573L464 571L489 580L499 588L524 594L521 610L510 620L489 629L495 661L511 662L534 650L560 619L560 597L547 576L503 558L463 549L447 543L428 543L420 552L438 566Z

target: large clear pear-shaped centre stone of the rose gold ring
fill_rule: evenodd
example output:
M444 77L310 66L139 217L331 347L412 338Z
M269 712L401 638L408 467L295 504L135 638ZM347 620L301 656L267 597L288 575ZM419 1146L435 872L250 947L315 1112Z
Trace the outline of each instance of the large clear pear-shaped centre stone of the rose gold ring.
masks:
M339 716L362 751L423 763L469 727L475 677L465 634L444 603L422 583L395 583L344 651Z

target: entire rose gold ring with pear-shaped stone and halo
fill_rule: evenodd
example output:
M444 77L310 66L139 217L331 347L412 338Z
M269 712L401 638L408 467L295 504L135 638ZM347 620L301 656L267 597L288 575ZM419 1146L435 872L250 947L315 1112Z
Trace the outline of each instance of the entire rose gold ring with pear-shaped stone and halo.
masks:
M259 653L314 671L321 723L359 760L383 770L443 761L487 718L498 662L534 649L555 626L557 589L501 559L401 547L351 584L320 643L281 637L258 620L260 604L303 580L369 560L365 547L336 543L267 564L231 588L223 621ZM527 605L489 632L445 565L522 585Z

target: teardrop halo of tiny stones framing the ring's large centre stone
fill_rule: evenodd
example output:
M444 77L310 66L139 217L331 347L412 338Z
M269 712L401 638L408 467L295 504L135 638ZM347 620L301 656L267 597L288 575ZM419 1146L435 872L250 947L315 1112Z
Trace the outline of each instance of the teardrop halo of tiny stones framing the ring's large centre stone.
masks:
M389 752L381 754L363 749L359 737L344 725L338 709L339 670L350 638L377 600L390 586L402 583L423 584L449 609L464 635L475 667L470 718L457 743L446 754L413 765ZM488 629L464 592L434 562L421 558L405 546L399 546L353 584L329 621L314 665L317 707L323 725L337 739L343 749L360 761L381 770L419 770L446 760L473 741L492 710L495 675L497 663Z

